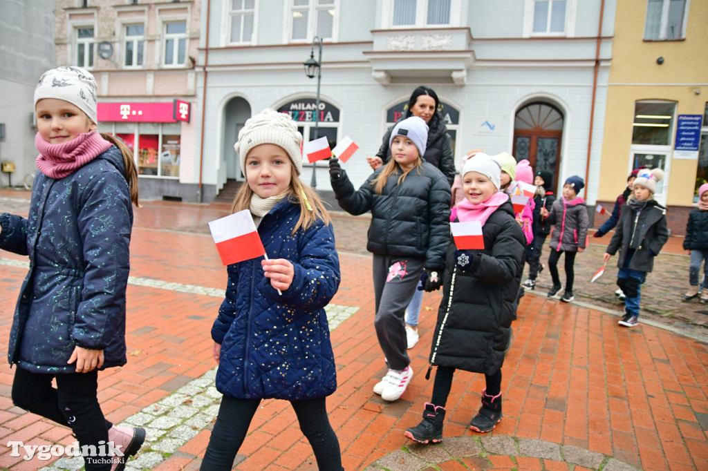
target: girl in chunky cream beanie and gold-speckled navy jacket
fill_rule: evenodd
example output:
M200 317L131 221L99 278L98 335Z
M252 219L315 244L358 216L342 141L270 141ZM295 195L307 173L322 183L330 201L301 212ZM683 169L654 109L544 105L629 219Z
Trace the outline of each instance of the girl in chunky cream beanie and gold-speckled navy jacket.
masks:
M300 182L300 142L289 115L251 117L234 148L246 175L233 212L249 209L268 260L227 267L226 298L212 327L219 415L201 469L231 470L261 400L289 400L320 470L341 470L325 398L337 388L324 307L339 287L333 228Z

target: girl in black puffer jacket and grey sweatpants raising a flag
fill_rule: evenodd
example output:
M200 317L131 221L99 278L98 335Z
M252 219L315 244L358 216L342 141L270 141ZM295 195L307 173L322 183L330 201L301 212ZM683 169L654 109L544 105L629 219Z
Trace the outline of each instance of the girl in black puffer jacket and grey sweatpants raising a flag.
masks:
M440 289L450 238L450 185L424 162L428 126L416 116L396 124L392 159L354 190L338 161L329 172L339 206L350 214L371 211L367 250L374 254L374 325L388 373L374 386L383 400L397 400L411 382L404 311L421 273L426 291Z

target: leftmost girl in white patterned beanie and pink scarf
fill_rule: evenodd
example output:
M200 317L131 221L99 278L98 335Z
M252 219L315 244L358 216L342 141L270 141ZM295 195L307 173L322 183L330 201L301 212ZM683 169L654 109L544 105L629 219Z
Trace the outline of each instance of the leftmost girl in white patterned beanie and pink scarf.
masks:
M122 141L96 131L96 81L88 71L46 71L34 102L40 171L29 217L0 215L0 248L30 260L8 347L17 366L12 401L69 426L86 450L87 471L122 470L145 431L106 420L97 392L98 370L126 363L135 161ZM111 442L122 455L86 455Z

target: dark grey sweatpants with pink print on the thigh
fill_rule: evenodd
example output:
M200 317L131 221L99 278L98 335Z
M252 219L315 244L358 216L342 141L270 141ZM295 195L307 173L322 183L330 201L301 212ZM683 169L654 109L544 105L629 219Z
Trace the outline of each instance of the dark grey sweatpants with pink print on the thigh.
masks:
M374 327L389 368L403 370L411 359L406 351L404 315L423 272L423 260L374 255ZM441 274L442 276L442 274Z

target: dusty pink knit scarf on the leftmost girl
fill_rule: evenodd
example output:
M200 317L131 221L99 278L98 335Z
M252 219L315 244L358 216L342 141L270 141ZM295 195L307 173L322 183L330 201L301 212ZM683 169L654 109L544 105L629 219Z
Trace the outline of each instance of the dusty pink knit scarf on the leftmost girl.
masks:
M37 133L35 147L40 153L37 156L37 166L40 172L49 178L64 178L91 162L112 145L95 131L79 134L62 144L50 144Z

